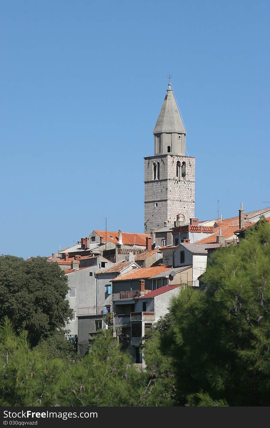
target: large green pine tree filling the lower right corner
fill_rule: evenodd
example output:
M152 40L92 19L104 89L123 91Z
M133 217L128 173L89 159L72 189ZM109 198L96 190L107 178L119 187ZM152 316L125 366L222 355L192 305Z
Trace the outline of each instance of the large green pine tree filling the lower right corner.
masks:
M269 405L270 225L217 249L204 282L207 291L188 288L174 299L174 321L161 338L179 403Z

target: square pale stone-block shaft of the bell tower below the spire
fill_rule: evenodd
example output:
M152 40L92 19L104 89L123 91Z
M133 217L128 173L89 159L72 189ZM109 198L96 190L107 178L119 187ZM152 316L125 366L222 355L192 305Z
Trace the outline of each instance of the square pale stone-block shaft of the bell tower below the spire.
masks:
M186 162L186 176L176 176L176 163ZM153 163L160 163L159 180L154 180ZM181 174L180 174L181 175ZM156 206L157 204L157 206ZM184 214L186 222L194 217L195 158L177 155L156 155L145 158L145 232L173 223Z

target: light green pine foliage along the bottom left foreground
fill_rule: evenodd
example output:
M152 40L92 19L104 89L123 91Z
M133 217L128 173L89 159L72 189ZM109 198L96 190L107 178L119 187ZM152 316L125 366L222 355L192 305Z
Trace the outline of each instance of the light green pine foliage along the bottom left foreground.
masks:
M73 363L31 349L27 333L17 336L6 318L0 357L0 406L154 406L162 389L135 370L111 330L101 330L89 354Z

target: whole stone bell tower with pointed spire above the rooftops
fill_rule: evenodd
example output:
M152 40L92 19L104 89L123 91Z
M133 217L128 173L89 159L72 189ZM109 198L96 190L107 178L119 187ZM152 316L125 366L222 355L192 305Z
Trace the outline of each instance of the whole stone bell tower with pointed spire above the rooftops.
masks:
M154 127L154 156L145 159L144 230L173 224L178 214L184 224L195 211L195 158L186 156L186 130L171 89L165 95Z

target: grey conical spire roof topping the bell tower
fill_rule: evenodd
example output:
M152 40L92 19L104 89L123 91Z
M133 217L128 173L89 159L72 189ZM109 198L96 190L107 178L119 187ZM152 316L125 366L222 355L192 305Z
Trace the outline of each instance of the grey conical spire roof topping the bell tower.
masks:
M170 81L169 89L167 89L167 94L165 95L160 114L153 131L153 134L163 133L186 134L181 115L177 108L175 97L172 93Z

